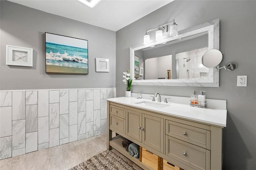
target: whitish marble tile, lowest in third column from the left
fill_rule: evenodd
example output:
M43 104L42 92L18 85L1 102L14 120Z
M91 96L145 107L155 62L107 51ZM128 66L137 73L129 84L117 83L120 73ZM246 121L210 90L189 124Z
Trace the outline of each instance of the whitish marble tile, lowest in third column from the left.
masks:
M26 133L26 153L38 150L38 133Z

